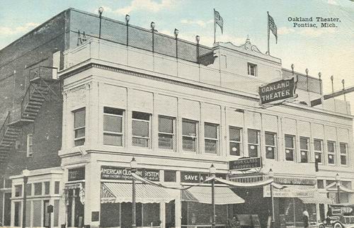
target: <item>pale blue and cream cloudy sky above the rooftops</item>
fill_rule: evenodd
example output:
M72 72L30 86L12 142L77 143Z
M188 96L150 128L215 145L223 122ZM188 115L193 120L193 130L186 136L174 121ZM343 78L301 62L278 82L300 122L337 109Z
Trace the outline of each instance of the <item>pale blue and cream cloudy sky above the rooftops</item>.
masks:
M267 50L267 11L278 28L278 43L270 33L270 54L282 59L282 67L317 76L321 72L324 93L354 86L354 0L0 0L0 49L6 47L35 26L47 21L61 11L72 7L97 13L103 7L103 16L118 21L130 14L130 23L149 28L156 23L159 33L173 35L178 28L178 38L212 46L214 41L213 8L224 20L224 31L217 28L217 41L244 44L247 36L261 52ZM316 17L338 18L335 28L294 27L289 18ZM346 96L353 104L354 93ZM343 98L342 98L343 99Z

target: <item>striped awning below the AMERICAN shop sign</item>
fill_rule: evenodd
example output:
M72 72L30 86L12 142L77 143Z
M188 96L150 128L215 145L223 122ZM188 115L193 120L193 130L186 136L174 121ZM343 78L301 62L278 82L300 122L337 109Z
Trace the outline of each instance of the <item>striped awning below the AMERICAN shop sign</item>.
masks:
M137 203L169 203L174 197L169 190L144 183L136 184ZM131 183L102 183L101 203L128 203L132 202Z

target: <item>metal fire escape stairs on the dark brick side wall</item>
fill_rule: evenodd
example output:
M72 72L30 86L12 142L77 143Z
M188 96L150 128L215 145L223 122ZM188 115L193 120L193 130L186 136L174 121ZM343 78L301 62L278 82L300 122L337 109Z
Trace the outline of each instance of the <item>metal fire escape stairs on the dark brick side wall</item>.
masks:
M0 164L6 163L8 153L21 135L22 127L35 121L45 101L61 101L61 84L57 68L36 67L29 71L29 84L20 107L8 111L0 128Z

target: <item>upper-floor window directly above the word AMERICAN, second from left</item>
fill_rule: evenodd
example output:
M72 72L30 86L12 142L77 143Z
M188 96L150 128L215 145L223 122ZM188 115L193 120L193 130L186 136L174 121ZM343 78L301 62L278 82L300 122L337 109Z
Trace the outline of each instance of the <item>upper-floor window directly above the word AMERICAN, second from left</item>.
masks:
M104 107L103 113L103 144L122 147L123 110Z

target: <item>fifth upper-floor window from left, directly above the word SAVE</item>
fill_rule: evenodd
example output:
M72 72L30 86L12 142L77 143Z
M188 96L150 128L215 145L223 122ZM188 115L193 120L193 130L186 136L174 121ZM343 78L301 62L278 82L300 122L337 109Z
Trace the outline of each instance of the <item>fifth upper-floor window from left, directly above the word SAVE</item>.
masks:
M185 151L197 152L197 123L192 120L182 120L182 147Z

